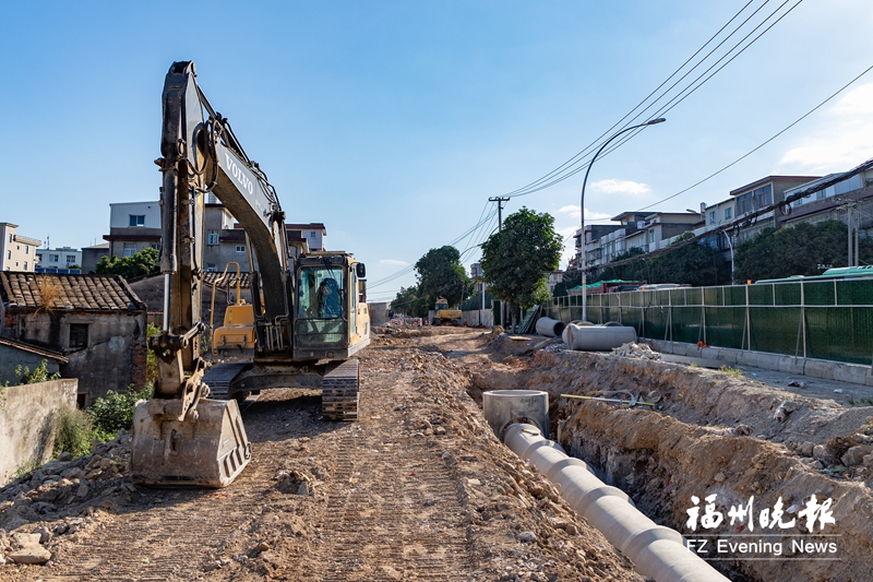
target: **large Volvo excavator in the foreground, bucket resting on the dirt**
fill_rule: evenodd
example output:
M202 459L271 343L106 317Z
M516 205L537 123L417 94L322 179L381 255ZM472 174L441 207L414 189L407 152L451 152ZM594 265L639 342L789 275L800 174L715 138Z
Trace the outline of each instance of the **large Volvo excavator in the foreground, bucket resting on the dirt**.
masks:
M250 394L321 389L325 419L357 418L352 356L370 342L367 273L347 252L292 257L275 189L206 100L191 61L174 62L164 82L160 154L164 321L148 341L157 380L152 397L134 407L131 473L146 486L225 487L251 459L238 405ZM208 193L246 231L254 352L207 372L201 295Z

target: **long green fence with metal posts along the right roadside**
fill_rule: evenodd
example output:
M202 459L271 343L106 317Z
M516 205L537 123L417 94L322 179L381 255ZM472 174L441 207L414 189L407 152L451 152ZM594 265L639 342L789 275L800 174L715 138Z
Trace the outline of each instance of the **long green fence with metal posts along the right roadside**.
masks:
M582 319L582 297L546 314ZM618 321L651 340L873 363L873 280L680 287L588 296L588 320Z

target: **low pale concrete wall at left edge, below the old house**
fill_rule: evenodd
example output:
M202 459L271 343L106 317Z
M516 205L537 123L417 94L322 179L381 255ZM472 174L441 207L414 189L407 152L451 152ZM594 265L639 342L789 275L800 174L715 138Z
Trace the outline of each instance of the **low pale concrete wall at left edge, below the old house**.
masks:
M75 406L76 380L0 388L0 486L33 460L52 454L55 419L62 405Z

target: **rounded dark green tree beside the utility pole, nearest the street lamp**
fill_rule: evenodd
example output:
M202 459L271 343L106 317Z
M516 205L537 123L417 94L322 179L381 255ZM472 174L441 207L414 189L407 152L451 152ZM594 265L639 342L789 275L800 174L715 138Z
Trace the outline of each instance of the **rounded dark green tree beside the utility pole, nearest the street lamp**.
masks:
M522 207L506 216L503 229L482 245L482 272L488 289L510 305L513 324L517 309L540 301L549 273L561 259L561 236L550 214Z

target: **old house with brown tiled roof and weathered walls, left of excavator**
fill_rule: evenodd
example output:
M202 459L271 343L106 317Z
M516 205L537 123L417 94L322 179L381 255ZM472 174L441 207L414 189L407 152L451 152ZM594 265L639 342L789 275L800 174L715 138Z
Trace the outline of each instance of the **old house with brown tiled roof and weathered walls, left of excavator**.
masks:
M0 273L0 335L62 354L79 403L145 383L146 307L120 276Z

